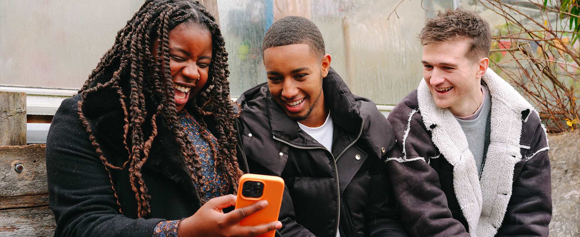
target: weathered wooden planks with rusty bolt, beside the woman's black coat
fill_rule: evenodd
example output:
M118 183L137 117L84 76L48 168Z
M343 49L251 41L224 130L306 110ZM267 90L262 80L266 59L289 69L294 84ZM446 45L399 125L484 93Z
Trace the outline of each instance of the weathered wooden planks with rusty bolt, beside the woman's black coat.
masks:
M45 145L0 146L0 236L53 236L55 228Z

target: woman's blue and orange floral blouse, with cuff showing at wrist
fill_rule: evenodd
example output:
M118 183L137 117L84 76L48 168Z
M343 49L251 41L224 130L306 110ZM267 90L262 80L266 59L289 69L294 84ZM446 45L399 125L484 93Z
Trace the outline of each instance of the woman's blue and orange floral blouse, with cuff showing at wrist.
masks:
M204 187L201 189L205 194L201 198L204 201L208 201L225 195L229 188L227 173L220 167L215 167L215 158L213 157L211 146L204 140L202 133L206 133L206 137L209 138L214 147L217 146L218 140L206 127L202 127L200 123L195 121L195 118L187 110L180 111L178 116L184 129L183 132L189 136L195 151L200 156L201 173L204 181ZM177 237L177 227L179 227L180 222L181 220L161 221L155 226L153 237Z

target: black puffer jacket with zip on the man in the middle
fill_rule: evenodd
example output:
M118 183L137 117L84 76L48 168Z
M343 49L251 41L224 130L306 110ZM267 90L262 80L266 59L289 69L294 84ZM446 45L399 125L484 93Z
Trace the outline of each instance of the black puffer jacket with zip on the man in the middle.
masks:
M326 150L272 99L266 83L240 97L242 140L251 173L281 176L283 236L406 236L391 205L381 161L395 143L372 101L354 96L334 70L323 80L334 122ZM339 190L339 191L338 191Z

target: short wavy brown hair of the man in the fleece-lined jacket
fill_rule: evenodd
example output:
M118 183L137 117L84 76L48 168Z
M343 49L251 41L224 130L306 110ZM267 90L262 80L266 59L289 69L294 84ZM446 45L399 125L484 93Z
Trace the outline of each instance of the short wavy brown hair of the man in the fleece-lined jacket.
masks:
M439 11L436 17L427 19L418 38L423 46L467 38L471 41L467 59L476 61L490 55L490 24L475 12L461 8Z

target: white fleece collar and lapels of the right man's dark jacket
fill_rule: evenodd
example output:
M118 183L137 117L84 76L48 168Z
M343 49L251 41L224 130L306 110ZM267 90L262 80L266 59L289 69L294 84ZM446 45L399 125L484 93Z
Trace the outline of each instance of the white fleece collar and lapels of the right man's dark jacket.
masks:
M522 158L522 123L534 108L490 68L482 79L490 90L492 105L490 145L481 179L461 125L448 109L437 107L424 79L417 90L417 99L433 143L454 166L454 191L470 233L494 236L512 195L514 165Z

